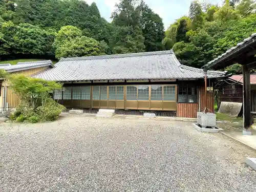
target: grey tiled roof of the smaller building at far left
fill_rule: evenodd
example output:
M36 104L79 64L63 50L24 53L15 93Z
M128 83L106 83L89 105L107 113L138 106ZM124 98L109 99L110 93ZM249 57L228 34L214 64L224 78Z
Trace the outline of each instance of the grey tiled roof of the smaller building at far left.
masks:
M29 70L39 67L54 67L51 60L42 60L42 61L31 61L31 62L18 62L17 65L7 64L0 64L0 69L4 69L7 72L15 72L15 71L22 71L22 70Z

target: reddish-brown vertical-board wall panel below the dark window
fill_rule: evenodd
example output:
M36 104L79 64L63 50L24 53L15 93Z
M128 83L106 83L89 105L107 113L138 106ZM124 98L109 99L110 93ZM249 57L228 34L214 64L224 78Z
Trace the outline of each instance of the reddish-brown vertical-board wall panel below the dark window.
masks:
M177 117L196 118L198 112L198 103L178 103Z

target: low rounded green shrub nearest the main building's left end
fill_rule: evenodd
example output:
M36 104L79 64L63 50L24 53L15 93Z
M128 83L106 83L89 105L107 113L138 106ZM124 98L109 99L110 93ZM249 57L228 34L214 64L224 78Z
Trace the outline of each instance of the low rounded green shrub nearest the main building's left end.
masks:
M53 99L47 99L44 106L38 106L36 113L42 121L54 121L58 119L59 114L65 109L65 106L55 102Z

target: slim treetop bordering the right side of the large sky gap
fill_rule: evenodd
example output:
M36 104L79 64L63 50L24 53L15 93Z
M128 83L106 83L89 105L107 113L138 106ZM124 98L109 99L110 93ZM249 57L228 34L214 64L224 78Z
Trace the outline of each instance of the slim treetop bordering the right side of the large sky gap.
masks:
M189 17L191 19L191 27L193 30L203 26L204 14L202 6L198 1L191 2L189 7Z

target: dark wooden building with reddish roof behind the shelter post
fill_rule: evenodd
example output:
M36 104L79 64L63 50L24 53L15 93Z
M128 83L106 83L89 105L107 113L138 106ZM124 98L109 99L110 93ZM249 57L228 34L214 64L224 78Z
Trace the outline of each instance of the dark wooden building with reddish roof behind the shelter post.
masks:
M243 103L243 75L233 75L218 83L216 96L218 108L222 101ZM256 112L256 74L250 75L251 112Z

